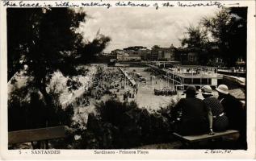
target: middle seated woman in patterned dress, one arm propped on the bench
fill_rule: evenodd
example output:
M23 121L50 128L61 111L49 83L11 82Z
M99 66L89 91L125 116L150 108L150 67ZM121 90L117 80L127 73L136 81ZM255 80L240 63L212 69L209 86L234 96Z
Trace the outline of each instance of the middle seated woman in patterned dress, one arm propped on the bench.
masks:
M227 130L229 126L229 118L225 115L224 108L220 101L216 97L213 97L211 86L204 85L201 91L204 97L204 104L208 108L209 134L214 134L213 130Z

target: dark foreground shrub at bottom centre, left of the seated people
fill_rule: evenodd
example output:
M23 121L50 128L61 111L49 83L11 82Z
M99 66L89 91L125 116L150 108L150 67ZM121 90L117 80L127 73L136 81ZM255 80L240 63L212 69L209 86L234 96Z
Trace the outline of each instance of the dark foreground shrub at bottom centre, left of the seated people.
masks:
M170 142L171 126L162 114L150 114L136 102L115 99L96 105L98 114L89 114L86 130L75 148L120 149Z

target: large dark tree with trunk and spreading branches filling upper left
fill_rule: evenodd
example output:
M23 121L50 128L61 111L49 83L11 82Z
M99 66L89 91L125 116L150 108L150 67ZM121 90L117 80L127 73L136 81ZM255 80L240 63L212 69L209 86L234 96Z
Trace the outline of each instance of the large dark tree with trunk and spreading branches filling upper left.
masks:
M27 88L36 88L43 95L45 123L50 125L55 105L47 85L52 73L77 75L81 72L78 65L86 64L92 55L103 51L110 38L99 35L86 42L77 31L80 23L86 21L86 13L80 10L9 8L7 18L8 77L27 66L25 75L31 79Z

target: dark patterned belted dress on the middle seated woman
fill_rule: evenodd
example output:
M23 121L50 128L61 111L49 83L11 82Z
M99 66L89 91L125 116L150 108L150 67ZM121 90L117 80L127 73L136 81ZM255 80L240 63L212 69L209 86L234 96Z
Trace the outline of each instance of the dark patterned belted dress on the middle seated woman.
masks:
M229 119L224 114L224 108L216 97L207 97L204 99L205 105L212 111L212 129L214 131L227 130Z

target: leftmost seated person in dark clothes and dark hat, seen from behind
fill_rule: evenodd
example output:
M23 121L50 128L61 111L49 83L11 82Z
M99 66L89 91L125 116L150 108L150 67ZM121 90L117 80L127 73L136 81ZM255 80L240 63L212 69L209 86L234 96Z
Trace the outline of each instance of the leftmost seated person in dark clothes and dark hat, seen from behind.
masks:
M204 102L195 97L194 85L188 86L186 98L178 101L171 111L174 131L182 135L196 135L208 133L208 112Z

